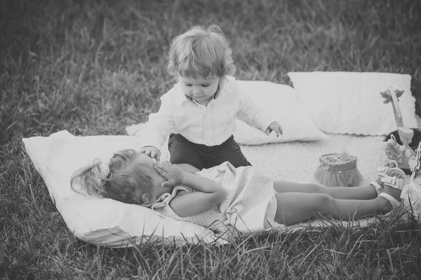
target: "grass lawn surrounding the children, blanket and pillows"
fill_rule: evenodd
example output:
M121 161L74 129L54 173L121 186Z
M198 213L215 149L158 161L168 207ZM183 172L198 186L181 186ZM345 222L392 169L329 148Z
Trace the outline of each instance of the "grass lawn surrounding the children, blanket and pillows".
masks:
M420 279L419 221L274 232L229 246L109 249L67 229L22 146L59 130L125 134L173 84L168 43L217 23L236 77L288 71L409 73L421 115L420 1L0 3L1 279Z

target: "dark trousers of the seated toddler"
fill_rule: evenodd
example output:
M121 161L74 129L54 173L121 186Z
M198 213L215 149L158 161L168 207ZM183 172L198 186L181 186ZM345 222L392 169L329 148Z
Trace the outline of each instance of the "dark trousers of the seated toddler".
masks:
M181 134L172 133L168 139L168 151L171 163L188 163L198 169L208 169L226 161L234 167L250 166L234 136L220 145L206 146L192 143Z

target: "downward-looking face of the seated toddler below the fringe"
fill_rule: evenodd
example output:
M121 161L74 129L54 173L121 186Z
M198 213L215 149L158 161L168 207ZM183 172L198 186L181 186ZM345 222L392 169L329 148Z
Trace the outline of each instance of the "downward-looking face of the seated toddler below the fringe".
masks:
M210 99L213 98L219 85L219 78L206 79L201 76L193 77L180 77L180 84L183 92L197 103L208 105Z

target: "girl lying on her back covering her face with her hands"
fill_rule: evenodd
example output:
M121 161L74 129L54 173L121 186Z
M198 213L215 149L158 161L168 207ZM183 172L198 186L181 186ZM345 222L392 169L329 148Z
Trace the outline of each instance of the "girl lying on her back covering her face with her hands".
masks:
M399 206L406 179L401 169L389 168L366 187L325 188L273 181L253 167L229 162L199 171L123 150L109 162L76 172L73 190L76 183L88 194L140 204L176 220L250 233L323 216L351 220L386 214Z

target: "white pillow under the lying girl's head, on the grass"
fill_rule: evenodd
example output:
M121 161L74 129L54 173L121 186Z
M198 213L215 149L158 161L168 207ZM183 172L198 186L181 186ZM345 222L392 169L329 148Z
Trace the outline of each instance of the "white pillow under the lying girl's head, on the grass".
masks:
M41 174L51 199L69 230L79 239L108 247L126 247L157 241L164 244L216 244L213 232L193 223L161 217L154 211L133 204L92 195L81 195L70 188L74 171L93 160L110 158L123 148L140 148L129 136L74 137L66 130L50 137L24 138L25 149Z

